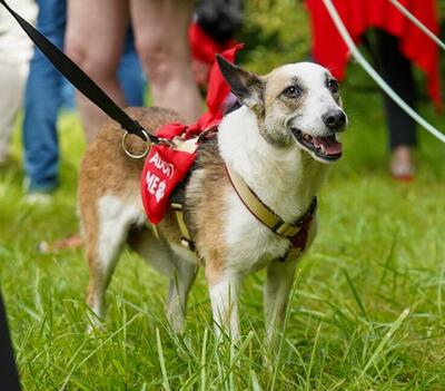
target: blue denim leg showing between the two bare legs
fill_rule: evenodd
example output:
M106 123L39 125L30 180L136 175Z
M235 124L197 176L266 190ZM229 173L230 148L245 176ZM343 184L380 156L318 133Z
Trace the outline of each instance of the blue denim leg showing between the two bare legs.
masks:
M130 107L144 106L145 77L139 56L135 49L135 37L131 29L128 29L126 36L118 78L122 86L127 105Z

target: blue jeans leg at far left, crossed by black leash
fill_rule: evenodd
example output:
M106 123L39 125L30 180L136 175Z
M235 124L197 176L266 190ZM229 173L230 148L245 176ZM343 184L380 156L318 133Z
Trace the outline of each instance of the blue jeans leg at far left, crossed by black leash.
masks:
M40 0L38 28L62 48L66 2ZM24 170L30 193L52 192L58 186L59 146L57 117L62 77L42 52L36 49L30 65L24 98Z

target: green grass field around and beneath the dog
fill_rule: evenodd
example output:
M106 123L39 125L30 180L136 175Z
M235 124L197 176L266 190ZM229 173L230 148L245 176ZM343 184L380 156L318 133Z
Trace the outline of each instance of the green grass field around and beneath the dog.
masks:
M291 57L280 42L267 65ZM251 68L266 67L261 53L250 53ZM445 147L421 130L416 182L394 182L379 96L359 92L363 75L352 76L344 158L319 195L319 236L298 268L270 366L263 273L243 287L239 345L217 346L202 273L187 332L175 336L164 313L167 282L126 252L106 328L87 334L81 251L37 252L39 242L77 231L78 119L60 119L61 187L46 207L23 202L17 131L13 159L0 169L0 278L23 390L444 390ZM431 108L421 111L443 125Z

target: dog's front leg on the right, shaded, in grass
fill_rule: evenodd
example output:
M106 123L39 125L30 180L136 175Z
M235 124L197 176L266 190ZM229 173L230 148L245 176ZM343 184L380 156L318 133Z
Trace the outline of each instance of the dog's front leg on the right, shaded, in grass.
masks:
M296 260L287 260L274 262L267 267L264 290L265 323L267 341L273 350L278 346L296 264Z

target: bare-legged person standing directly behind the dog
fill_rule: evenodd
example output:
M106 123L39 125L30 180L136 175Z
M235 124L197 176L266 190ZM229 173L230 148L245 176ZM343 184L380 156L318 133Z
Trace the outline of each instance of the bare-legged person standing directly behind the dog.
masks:
M194 6L194 0L69 0L67 53L123 106L117 67L131 19L155 105L171 108L192 123L202 111L187 39ZM91 140L106 116L80 94L78 105Z

